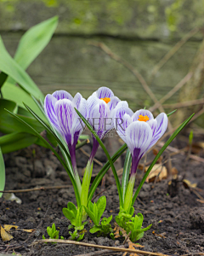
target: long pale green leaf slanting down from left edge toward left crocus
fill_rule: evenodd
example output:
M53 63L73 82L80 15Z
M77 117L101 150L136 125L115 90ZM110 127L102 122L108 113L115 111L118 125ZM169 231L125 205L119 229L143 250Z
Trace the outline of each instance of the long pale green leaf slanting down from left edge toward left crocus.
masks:
M8 54L0 37L0 70L13 78L20 86L31 95L37 98L44 98L41 90L33 82L30 76L23 70L20 65Z

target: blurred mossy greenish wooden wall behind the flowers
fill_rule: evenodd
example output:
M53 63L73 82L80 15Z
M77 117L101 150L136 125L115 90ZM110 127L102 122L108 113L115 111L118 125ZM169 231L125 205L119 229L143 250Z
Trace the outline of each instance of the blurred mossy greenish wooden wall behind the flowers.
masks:
M108 86L136 110L170 91L166 112L178 108L169 104L189 102L175 124L200 111L203 125L204 0L0 0L0 33L10 55L27 29L54 15L54 37L27 69L44 94L88 97Z

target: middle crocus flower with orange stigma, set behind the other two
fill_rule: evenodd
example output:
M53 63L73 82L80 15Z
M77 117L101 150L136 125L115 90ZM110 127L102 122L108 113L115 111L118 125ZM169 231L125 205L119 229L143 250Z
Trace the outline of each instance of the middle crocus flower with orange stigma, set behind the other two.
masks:
M114 96L111 89L100 87L94 91L92 96L88 97L88 122L93 126L100 139L105 137L108 131L114 128L114 116L118 108L127 108L127 102L122 102L118 97ZM93 138L93 150L90 161L94 159L94 155L99 147L99 143Z

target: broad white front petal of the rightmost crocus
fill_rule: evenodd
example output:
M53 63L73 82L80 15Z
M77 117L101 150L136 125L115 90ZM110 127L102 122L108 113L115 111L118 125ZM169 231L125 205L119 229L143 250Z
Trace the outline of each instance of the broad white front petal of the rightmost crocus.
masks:
M126 143L132 155L134 149L139 148L139 156L141 156L149 147L151 140L152 131L146 122L135 121L127 127Z

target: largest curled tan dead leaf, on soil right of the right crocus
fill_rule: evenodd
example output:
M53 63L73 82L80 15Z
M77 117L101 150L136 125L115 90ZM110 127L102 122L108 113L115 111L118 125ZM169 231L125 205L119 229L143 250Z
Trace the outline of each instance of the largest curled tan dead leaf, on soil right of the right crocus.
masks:
M149 166L145 167L145 172ZM165 166L161 166L156 164L153 166L152 170L150 171L150 174L146 178L147 183L152 183L157 178L157 182L161 181L162 179L167 178L167 168Z

